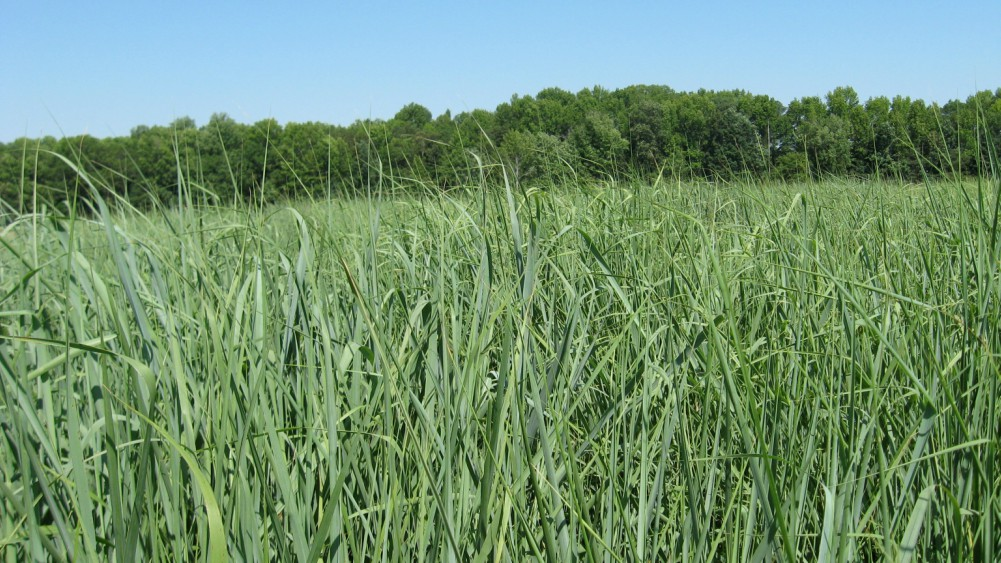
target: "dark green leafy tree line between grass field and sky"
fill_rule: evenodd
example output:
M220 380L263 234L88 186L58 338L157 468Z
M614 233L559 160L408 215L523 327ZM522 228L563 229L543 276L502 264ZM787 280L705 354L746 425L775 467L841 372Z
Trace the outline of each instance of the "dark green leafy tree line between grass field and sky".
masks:
M75 174L50 152L142 205L185 190L226 201L350 194L387 181L447 189L498 177L496 164L523 184L954 177L991 173L999 139L1001 88L944 105L905 96L862 102L851 87L788 105L742 90L548 88L493 111L434 117L411 103L391 119L346 126L242 124L216 113L200 126L182 117L122 137L21 138L0 143L0 198L6 210L27 210L36 188L50 204L73 192Z

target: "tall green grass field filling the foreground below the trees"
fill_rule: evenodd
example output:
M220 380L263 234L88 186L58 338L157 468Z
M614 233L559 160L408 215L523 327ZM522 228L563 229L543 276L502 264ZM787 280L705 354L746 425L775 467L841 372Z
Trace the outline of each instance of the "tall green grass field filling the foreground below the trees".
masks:
M0 560L996 560L998 197L16 217Z

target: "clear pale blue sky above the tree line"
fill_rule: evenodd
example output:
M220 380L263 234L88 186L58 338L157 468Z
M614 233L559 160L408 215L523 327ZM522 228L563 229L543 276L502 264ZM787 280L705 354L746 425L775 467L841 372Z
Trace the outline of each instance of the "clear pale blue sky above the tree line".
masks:
M549 86L742 88L784 103L1001 87L1001 2L0 0L0 141L216 111L348 124Z

